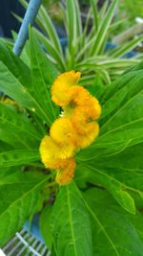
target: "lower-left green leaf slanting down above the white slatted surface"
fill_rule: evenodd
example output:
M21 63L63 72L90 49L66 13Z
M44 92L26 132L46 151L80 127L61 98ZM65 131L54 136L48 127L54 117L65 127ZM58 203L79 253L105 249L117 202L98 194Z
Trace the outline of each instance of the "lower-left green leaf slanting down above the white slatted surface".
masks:
M10 184L0 186L0 246L6 244L23 227L46 182L46 175L21 173L17 177L15 174L13 180L10 177Z

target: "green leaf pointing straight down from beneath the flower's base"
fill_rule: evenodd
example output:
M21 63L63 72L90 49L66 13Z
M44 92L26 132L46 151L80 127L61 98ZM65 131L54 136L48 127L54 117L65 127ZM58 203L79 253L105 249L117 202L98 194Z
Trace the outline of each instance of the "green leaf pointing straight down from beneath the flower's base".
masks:
M53 205L51 224L58 256L92 256L89 216L74 184L61 187Z

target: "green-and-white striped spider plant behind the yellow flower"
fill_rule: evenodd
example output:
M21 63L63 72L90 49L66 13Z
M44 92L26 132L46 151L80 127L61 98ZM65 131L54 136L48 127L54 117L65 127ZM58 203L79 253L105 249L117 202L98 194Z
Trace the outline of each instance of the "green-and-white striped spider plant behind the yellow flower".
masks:
M20 2L27 8L28 3L25 0L20 0ZM83 74L81 82L84 84L90 84L95 75L98 74L101 81L107 84L121 75L127 67L139 62L140 56L133 58L123 58L123 56L142 40L142 36L125 45L118 46L116 49L105 51L110 31L118 25L118 22L112 23L117 1L113 0L109 8L108 2L105 2L100 11L97 11L94 0L91 0L90 3L91 7L84 28L77 0L67 0L66 9L61 6L68 35L68 46L65 48L65 53L63 53L61 41L55 31L51 17L43 6L40 8L36 19L40 31L35 29L35 33L47 51L48 58L60 72L72 69L79 70ZM89 31L91 15L93 24Z

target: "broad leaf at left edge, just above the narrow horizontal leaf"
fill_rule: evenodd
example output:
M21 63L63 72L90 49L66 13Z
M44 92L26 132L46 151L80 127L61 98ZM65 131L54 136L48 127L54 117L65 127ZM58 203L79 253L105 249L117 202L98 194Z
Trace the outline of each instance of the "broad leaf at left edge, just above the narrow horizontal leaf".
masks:
M38 148L41 136L30 119L8 105L0 104L0 140L13 148Z

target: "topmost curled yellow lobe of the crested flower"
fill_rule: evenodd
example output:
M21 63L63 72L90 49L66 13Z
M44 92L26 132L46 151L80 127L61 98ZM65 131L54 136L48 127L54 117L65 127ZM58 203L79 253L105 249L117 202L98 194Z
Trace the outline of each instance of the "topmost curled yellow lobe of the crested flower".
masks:
M68 105L71 101L71 90L80 79L80 72L70 71L61 74L51 86L51 100L56 105Z

